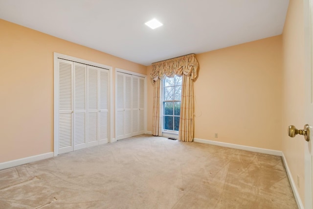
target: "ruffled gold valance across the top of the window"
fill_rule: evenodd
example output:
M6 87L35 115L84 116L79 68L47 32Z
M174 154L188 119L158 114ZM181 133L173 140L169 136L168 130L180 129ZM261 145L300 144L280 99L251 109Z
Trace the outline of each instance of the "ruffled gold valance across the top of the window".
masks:
M188 54L185 56L164 60L152 64L152 71L150 78L152 82L157 79L164 79L167 77L174 77L174 75L190 76L194 80L197 76L199 63L195 54Z

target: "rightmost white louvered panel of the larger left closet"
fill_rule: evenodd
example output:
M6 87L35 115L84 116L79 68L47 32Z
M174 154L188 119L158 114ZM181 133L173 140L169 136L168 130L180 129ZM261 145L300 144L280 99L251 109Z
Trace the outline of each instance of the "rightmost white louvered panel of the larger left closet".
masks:
M99 144L109 141L109 70L99 69Z

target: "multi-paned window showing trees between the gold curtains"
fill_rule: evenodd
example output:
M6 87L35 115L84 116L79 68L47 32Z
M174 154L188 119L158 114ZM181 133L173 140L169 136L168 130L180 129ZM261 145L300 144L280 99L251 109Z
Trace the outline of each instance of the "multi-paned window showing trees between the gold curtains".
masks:
M162 80L163 130L178 132L182 77Z

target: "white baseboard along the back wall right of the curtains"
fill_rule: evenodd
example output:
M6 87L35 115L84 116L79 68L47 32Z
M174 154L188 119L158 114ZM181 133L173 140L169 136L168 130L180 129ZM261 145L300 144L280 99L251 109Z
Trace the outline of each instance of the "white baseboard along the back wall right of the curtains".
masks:
M194 138L194 141L199 142L199 143L212 144L212 145L224 146L224 147L235 148L235 149L242 149L242 150L247 150L251 152L259 152L259 153L264 153L264 154L269 154L269 155L282 156L282 151L278 151L278 150L263 149L263 148L258 148L258 147L244 146L244 145L231 144L231 143L212 141L212 140L206 140L206 139L197 139L197 138Z

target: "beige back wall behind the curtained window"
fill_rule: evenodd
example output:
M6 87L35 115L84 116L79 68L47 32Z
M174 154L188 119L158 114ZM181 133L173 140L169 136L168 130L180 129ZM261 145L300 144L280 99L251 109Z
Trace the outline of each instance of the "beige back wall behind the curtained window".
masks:
M195 138L281 150L281 50L275 36L197 54Z

